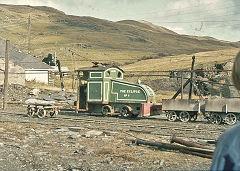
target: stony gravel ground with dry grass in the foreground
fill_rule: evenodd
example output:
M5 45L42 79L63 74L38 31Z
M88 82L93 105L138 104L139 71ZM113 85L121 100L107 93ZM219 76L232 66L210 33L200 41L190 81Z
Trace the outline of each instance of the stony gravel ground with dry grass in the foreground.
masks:
M166 136L128 132L126 126L114 124L132 124L133 120L110 117L113 122L107 123L106 117L86 115L62 119L64 113L56 119L39 119L26 117L23 108L0 113L0 170L209 170L211 165L210 159L132 144L135 138L169 141ZM103 124L91 122L94 119ZM136 122L159 126L168 123L161 119ZM179 124L194 125L176 122L169 124L170 129ZM206 130L216 128L204 122L197 125Z

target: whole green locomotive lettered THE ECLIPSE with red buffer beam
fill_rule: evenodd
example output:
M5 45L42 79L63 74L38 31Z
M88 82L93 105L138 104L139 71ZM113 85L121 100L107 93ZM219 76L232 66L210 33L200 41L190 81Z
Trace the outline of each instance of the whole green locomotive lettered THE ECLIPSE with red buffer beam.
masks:
M149 86L123 81L124 71L119 67L95 64L77 73L77 112L137 117L155 114L161 108Z

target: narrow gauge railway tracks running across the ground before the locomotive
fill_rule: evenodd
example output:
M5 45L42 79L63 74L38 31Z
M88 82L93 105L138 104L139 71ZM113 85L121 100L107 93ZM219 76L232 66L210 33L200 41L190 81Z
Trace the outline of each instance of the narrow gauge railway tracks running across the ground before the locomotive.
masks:
M2 119L2 122L19 122L28 124L40 124L40 125L56 125L56 126L81 126L89 129L99 129L107 131L120 131L120 132L135 132L143 134L151 134L157 136L171 136L177 134L178 137L197 138L202 140L216 140L218 136L226 129L225 126L221 126L216 130L215 125L203 124L200 128L196 128L194 123L177 123L168 122L165 120L126 120L119 117L99 117L90 115L75 115L66 116L60 115L57 118L29 118L23 117L25 113L16 115L15 113L4 112L3 115L16 116L16 119L10 120ZM199 124L198 124L199 125ZM209 128L209 125L213 128ZM205 126L205 127L204 127Z

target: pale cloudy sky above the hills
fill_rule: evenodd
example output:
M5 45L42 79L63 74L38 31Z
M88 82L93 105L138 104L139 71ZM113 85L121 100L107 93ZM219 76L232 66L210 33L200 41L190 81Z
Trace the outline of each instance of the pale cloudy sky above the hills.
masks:
M240 0L0 0L50 6L69 15L145 20L179 34L240 41Z

